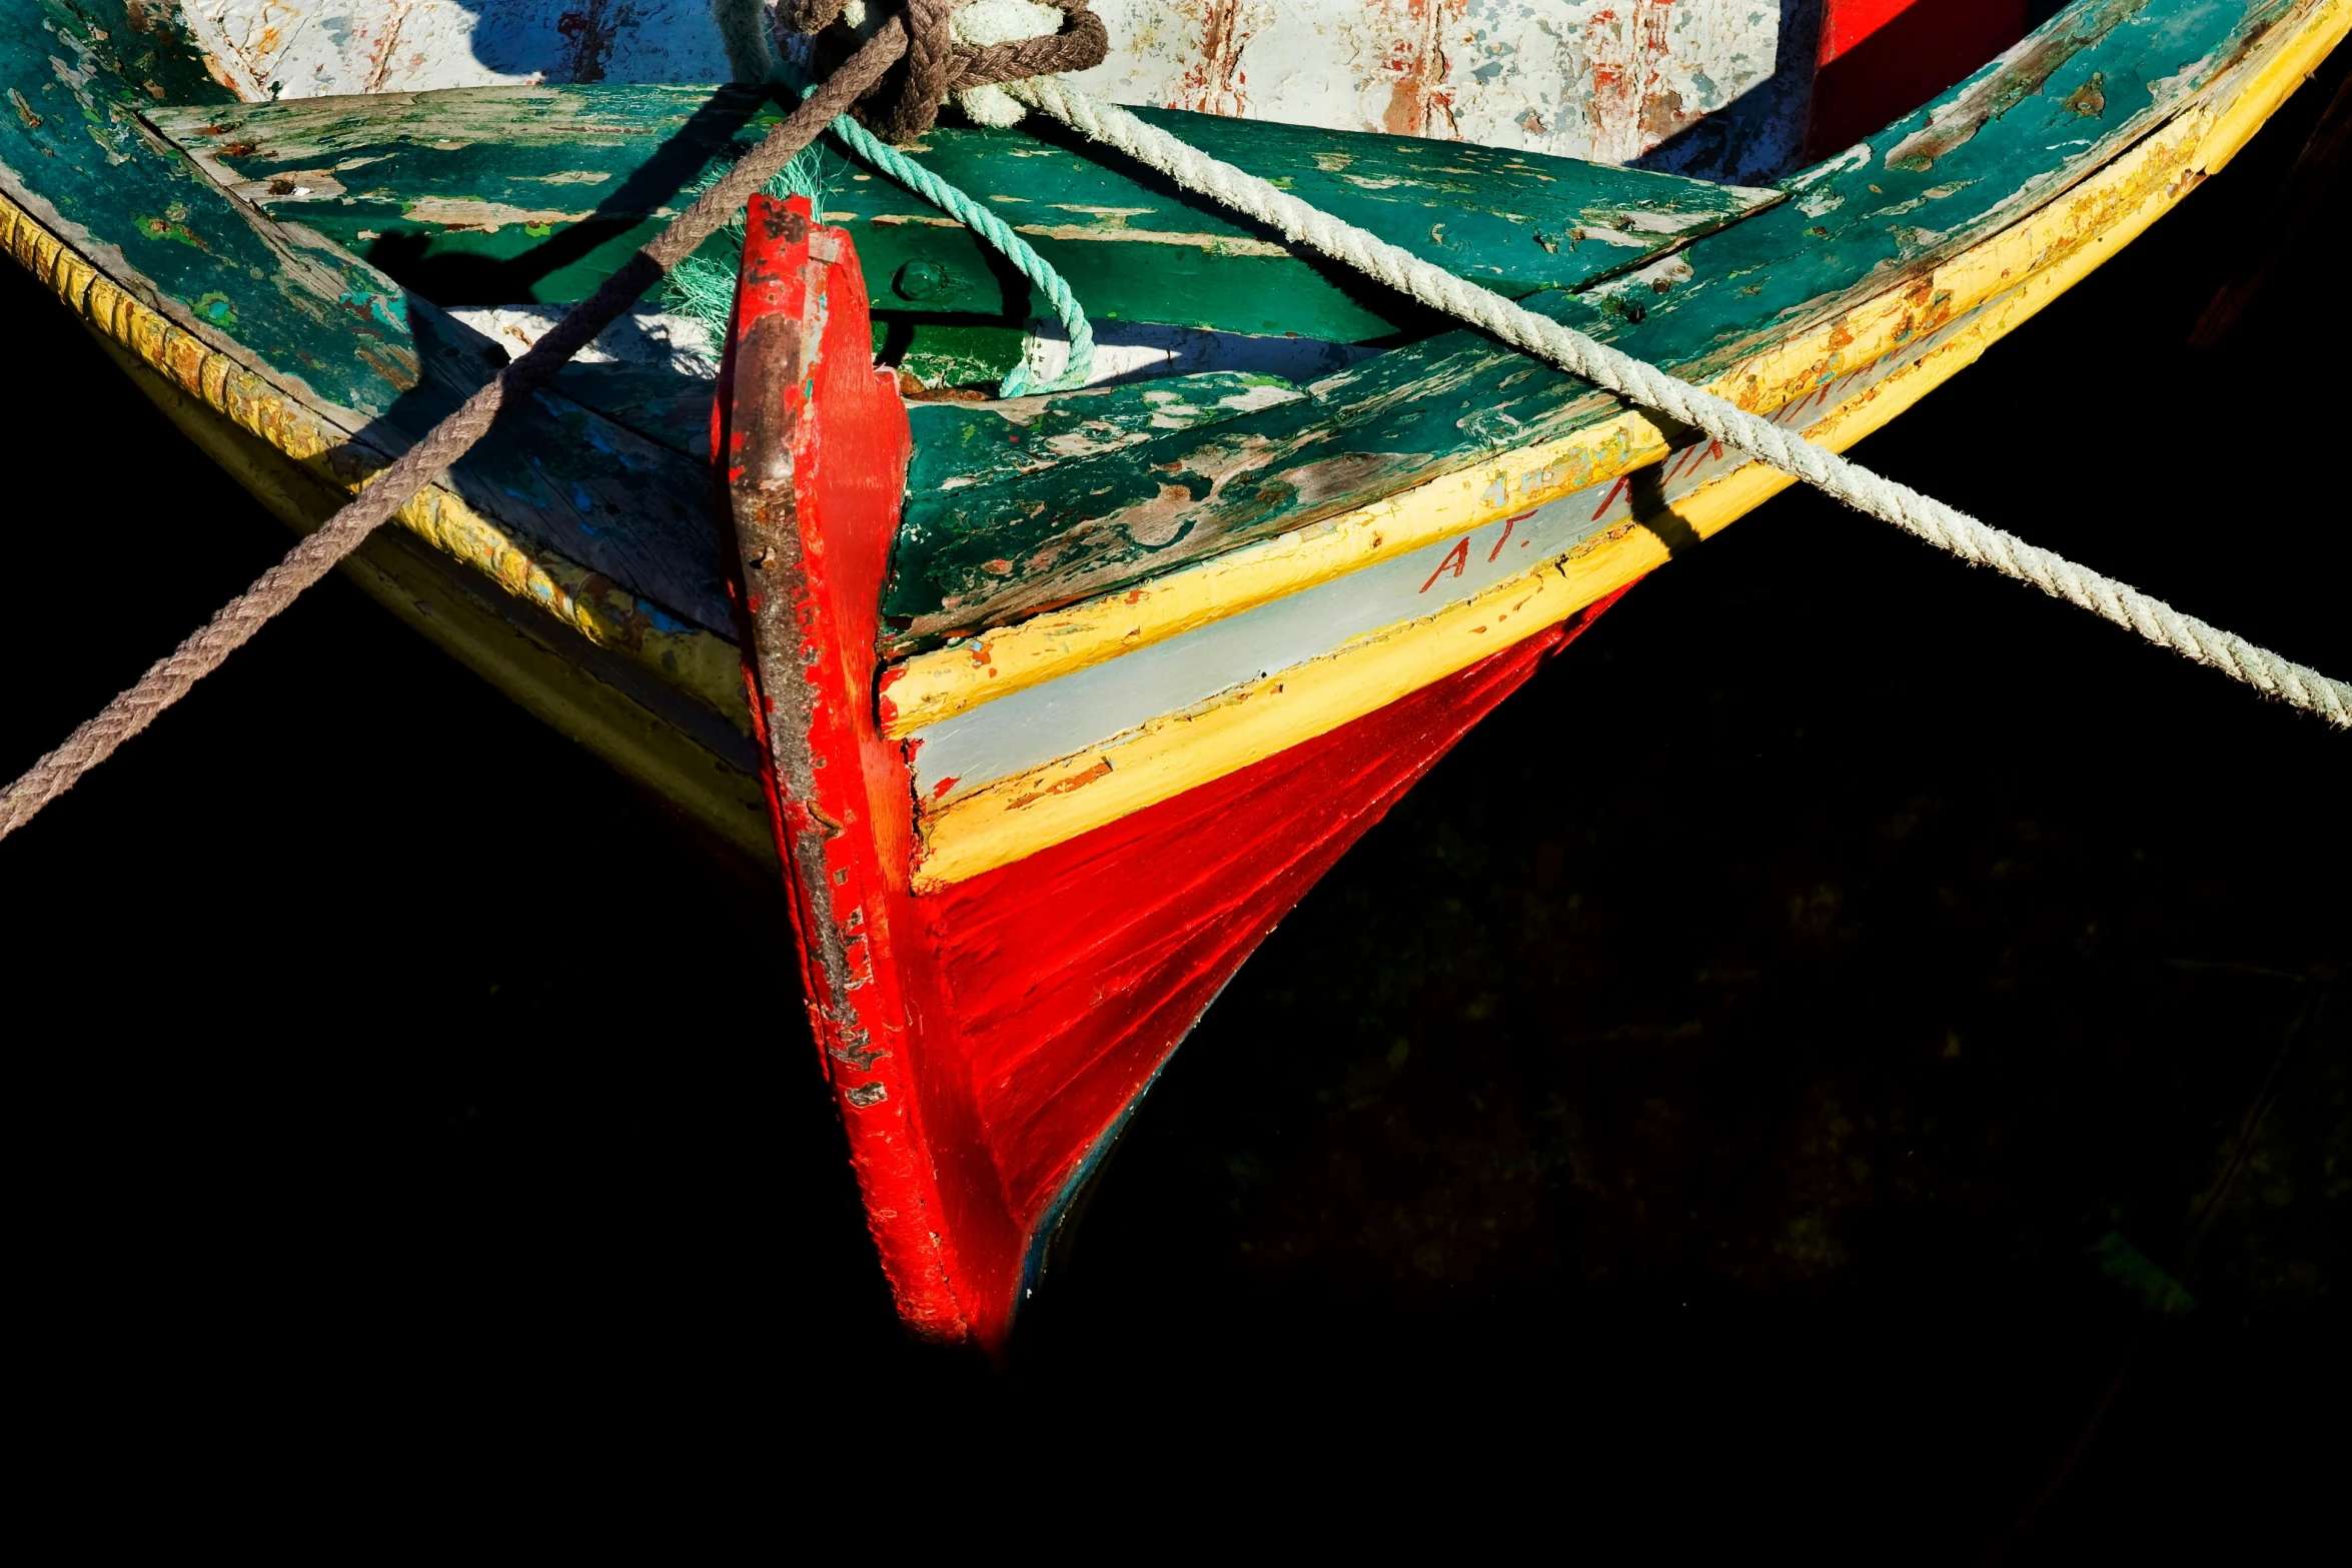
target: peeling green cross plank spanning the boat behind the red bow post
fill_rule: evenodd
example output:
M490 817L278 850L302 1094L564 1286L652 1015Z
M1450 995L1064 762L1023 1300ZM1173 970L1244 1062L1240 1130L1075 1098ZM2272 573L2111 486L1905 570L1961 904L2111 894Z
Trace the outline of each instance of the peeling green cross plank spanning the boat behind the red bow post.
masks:
M301 216L433 299L522 303L583 296L729 143L776 118L741 89L696 92L463 89L151 118L247 200ZM1515 299L1639 266L1776 200L1541 153L1145 113ZM1338 343L1423 324L1381 289L1291 256L1150 172L1105 165L1056 127L941 127L917 158L997 205L1101 320ZM837 153L821 207L868 259L884 320L1049 315L969 230Z

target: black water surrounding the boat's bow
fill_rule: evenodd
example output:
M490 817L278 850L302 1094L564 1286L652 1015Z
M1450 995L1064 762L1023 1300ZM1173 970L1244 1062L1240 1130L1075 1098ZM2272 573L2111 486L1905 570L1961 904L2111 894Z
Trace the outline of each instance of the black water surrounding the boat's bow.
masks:
M2345 179L2185 346L2343 73L1863 461L2352 672ZM14 771L287 536L0 301ZM1783 496L1268 940L993 1371L894 1326L779 896L332 581L0 846L19 1420L397 1434L409 1500L1002 1469L1044 1542L2284 1547L2345 1474L2347 802L2352 738Z

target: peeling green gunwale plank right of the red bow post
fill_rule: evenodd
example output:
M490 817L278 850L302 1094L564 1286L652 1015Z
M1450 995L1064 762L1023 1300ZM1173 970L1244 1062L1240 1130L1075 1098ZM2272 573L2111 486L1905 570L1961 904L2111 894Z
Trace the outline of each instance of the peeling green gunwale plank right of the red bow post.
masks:
M1708 381L2056 197L2288 9L2293 0L2079 0L1938 106L1785 181L1792 200L1637 273L1529 303ZM1966 136L1962 122L1973 127ZM1931 125L1938 143L1926 158L1919 134ZM1917 301L1915 329L1933 329L1952 308ZM953 491L938 487L953 473L950 444L934 451L934 440L964 440L969 414L917 409L917 482L889 599L896 646L1122 588L1618 407L1468 331L1397 348L1308 393L1200 437L1171 433L1018 484Z

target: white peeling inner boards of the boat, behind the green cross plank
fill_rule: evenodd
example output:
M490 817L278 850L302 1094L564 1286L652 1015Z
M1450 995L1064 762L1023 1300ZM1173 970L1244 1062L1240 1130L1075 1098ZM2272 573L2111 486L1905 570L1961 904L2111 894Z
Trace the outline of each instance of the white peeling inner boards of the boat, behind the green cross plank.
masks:
M1738 101L1708 146L1653 162L1755 179L1797 148L1818 9L1820 0L1096 0L1112 54L1077 80L1117 103L1595 162L1644 158ZM212 73L247 101L727 78L710 0L181 0L181 14Z

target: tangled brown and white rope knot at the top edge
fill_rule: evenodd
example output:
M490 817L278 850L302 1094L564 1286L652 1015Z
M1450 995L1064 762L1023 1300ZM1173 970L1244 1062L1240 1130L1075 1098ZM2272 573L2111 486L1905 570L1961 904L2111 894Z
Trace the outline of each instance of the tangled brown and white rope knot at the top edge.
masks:
M906 61L856 110L894 143L929 132L950 94L974 120L1011 125L1021 106L997 82L1087 71L1110 54L1110 31L1089 0L903 0L898 16ZM870 35L884 19L882 0L781 0L776 7L776 26L811 42L833 26ZM1040 33L1044 26L1051 31Z

